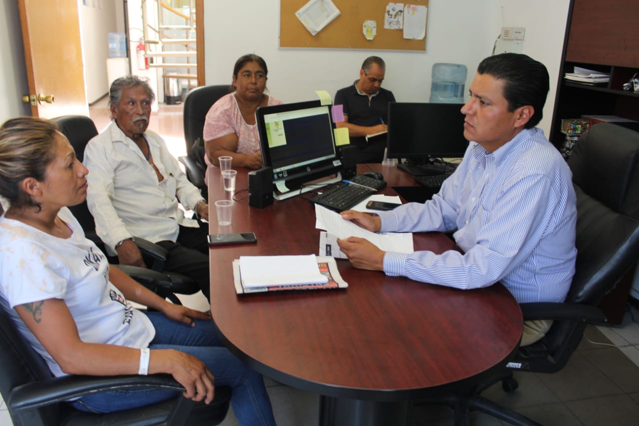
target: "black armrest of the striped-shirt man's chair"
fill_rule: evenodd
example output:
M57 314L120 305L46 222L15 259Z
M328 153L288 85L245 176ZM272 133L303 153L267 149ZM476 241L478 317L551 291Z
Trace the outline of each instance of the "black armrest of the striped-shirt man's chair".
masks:
M606 315L597 306L580 303L535 302L520 303L523 320L581 320L588 323L606 322Z

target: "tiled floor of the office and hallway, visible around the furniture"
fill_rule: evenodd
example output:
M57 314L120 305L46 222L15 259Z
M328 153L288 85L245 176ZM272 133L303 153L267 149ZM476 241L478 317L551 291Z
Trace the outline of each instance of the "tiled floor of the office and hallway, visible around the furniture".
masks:
M98 130L109 122L106 100L91 107ZM164 137L173 155L184 155L181 106L164 106L151 116L150 128ZM183 303L207 309L201 293ZM631 426L639 424L639 310L628 306L620 326L589 326L580 347L567 366L555 374L515 375L520 386L505 393L500 384L484 396L512 407L547 426ZM318 423L319 397L266 379L266 386L279 426L306 426ZM452 411L442 406L417 406L413 426L452 425ZM473 426L500 426L484 414L473 414ZM0 426L12 425L0 400ZM236 426L229 412L222 426Z

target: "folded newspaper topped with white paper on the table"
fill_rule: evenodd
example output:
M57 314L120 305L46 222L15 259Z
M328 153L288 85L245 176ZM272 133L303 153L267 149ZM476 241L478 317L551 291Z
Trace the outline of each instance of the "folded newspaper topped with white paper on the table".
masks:
M335 259L325 256L240 256L233 261L237 294L346 288Z

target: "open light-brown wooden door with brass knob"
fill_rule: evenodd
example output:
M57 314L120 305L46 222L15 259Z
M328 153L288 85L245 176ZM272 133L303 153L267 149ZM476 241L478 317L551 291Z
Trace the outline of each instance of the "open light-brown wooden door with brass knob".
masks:
M89 115L77 0L19 0L18 7L31 114Z

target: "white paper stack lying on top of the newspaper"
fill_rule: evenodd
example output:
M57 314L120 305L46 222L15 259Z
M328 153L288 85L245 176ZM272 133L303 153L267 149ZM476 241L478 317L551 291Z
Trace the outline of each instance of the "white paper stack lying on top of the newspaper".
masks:
M245 288L328 283L315 255L240 256L240 277Z

